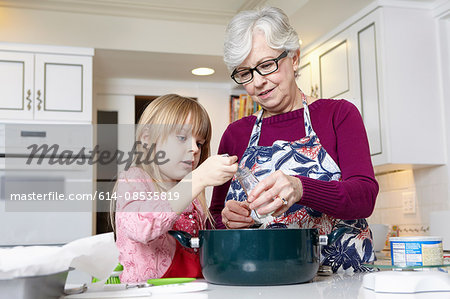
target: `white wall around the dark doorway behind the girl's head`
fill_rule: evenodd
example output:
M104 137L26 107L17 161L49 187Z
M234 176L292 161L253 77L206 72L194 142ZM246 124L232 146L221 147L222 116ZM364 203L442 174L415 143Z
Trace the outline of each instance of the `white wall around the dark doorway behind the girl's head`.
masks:
M220 138L229 124L231 84L114 79L95 81L94 93L94 122L97 110L118 111L119 124L134 124L135 95L159 96L177 93L197 98L207 110L212 122L212 154L217 153ZM127 138L126 136L130 136L129 132L127 128L124 128L122 133L119 131L119 150L129 151L131 148L134 137ZM212 189L208 188L208 200L211 198L211 192Z

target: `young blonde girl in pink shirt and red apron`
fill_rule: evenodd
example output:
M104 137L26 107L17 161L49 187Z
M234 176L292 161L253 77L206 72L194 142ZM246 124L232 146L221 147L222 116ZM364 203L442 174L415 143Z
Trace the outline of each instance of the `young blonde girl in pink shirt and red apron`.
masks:
M204 189L237 170L236 156L208 158L210 139L208 114L192 99L161 96L143 112L135 167L119 175L115 188L121 282L202 277L197 249L182 247L168 231L198 236L206 218L212 221Z

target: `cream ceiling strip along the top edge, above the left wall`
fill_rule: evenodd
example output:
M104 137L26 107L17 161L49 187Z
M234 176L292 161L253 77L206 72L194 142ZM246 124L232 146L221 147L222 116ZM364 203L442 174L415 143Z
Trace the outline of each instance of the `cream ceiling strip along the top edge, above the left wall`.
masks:
M237 12L273 5L297 10L308 0L0 0L9 7L226 24Z

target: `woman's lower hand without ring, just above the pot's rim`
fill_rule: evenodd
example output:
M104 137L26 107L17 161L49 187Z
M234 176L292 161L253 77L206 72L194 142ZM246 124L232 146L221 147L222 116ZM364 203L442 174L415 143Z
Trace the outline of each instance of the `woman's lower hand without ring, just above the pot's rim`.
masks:
M228 200L222 210L222 223L226 228L246 228L254 224L246 201Z

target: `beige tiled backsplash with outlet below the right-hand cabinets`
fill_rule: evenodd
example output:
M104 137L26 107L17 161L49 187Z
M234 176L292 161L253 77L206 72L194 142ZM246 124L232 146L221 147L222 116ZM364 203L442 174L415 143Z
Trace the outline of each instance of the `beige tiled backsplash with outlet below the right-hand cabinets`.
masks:
M447 177L446 166L377 175L380 191L369 223L397 225L400 236L428 235L430 213L450 209Z

